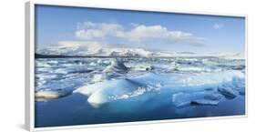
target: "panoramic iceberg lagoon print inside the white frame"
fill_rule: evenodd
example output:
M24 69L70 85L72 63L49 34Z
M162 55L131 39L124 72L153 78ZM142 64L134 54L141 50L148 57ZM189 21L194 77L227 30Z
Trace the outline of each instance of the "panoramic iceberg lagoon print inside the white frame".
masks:
M35 127L246 115L246 18L35 5Z

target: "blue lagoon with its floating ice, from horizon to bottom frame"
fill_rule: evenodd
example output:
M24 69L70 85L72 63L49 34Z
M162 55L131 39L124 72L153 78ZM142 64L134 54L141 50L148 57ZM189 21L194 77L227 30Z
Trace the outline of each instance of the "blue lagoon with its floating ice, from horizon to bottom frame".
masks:
M36 59L36 127L245 114L244 60L111 60Z

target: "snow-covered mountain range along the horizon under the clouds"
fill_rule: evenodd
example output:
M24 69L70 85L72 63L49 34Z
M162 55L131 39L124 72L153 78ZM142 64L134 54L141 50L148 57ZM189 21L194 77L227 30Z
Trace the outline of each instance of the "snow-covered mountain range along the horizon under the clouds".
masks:
M133 56L133 57L198 57L215 56L225 59L242 59L244 53L197 54L191 52L153 52L143 48L60 45L36 50L36 54L45 56Z

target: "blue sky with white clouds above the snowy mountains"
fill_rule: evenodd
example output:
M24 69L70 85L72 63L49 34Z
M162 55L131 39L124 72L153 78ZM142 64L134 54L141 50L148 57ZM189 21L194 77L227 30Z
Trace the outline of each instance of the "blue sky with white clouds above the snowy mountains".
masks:
M52 47L244 53L245 18L36 5L36 50Z

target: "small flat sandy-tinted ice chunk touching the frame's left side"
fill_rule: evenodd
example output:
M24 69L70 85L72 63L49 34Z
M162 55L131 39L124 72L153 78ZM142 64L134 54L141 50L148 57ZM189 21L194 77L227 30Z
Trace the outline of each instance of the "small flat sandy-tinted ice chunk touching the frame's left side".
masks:
M40 90L35 93L36 101L47 101L51 99L56 99L59 97L70 95L71 91L64 89L60 90Z

